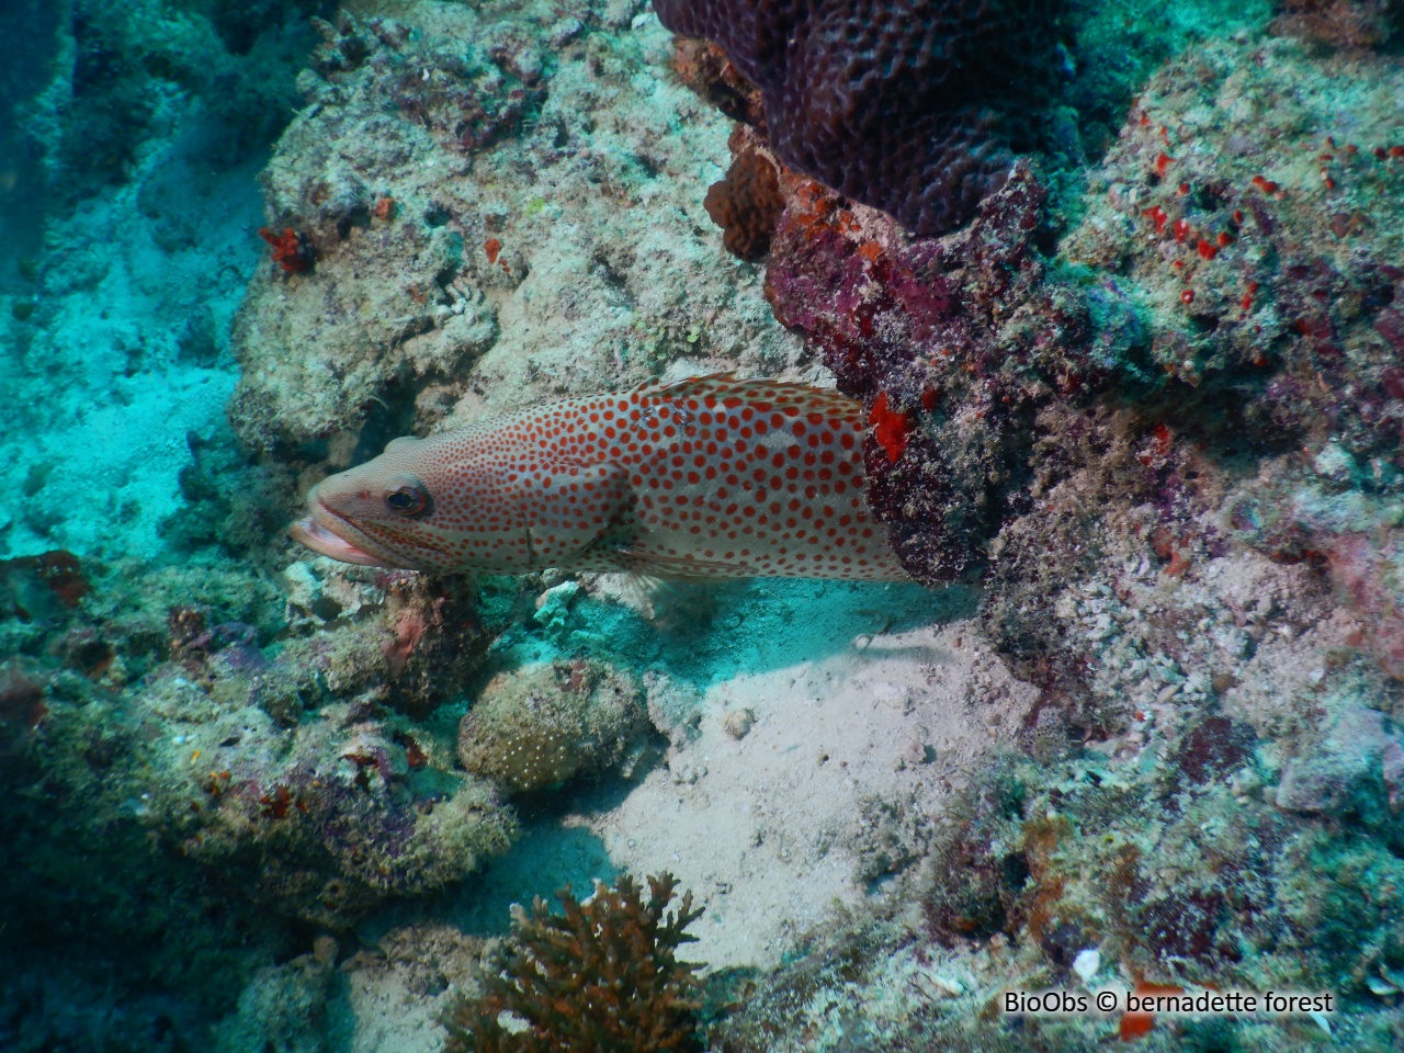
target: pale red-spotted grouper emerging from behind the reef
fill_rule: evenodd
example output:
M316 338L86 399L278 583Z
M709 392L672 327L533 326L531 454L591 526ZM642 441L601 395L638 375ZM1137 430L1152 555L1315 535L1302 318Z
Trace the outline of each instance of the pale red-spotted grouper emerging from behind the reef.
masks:
M295 541L432 573L910 580L868 505L863 404L730 373L576 396L317 483Z

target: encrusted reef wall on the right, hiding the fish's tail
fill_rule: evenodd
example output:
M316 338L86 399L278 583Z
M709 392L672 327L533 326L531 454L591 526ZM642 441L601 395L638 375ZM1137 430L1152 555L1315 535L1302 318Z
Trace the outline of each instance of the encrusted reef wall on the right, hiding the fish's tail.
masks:
M1045 768L977 781L920 915L820 938L715 1045L1115 1033L988 1008L1070 983L1335 990L1363 1000L1335 1040L1397 1043L1370 1001L1394 987L1369 979L1401 952L1397 91L1365 56L1196 48L1066 232L1031 173L942 241L782 184L776 316L869 402L908 569L987 564L981 618L1040 689L1022 736ZM1092 949L1105 972L1074 974ZM1254 1047L1272 1026L1177 1033Z

